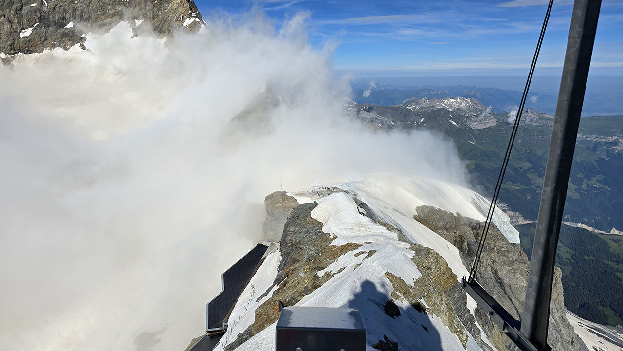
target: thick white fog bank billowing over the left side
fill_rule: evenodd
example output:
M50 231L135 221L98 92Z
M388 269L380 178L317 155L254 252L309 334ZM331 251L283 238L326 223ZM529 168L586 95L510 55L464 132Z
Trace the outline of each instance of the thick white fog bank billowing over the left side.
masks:
M344 117L348 80L305 14L278 30L249 17L174 43L123 23L90 51L0 67L1 350L183 350L281 183L464 183L450 143ZM287 102L270 132L223 143L266 83Z

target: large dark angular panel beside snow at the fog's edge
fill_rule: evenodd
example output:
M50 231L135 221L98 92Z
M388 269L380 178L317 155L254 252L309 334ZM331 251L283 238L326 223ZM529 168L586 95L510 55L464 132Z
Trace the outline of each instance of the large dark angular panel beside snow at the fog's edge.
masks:
M223 320L244 290L255 267L259 264L268 246L257 244L249 253L235 262L222 274L223 291L207 304L206 330L221 329Z

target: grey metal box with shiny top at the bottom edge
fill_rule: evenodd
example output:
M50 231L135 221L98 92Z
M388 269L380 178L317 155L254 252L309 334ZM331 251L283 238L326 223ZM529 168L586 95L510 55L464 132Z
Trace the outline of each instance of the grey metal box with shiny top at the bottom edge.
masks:
M366 351L366 327L356 309L284 307L277 351Z

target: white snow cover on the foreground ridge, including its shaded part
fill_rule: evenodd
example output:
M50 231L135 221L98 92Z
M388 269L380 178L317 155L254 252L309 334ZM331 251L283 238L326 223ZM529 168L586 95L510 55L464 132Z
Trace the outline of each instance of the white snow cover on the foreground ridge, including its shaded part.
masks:
M326 188L335 188L338 192L328 195ZM325 271L336 275L316 291L303 297L297 305L359 309L368 334L368 350L374 350L371 345L383 340L383 335L399 342L399 348L405 350L464 350L457 336L445 327L439 317L421 314L409 308L406 303L397 301L402 314L413 320L413 323L405 323L406 318L391 319L378 307L379 302L383 303L390 299L393 291L391 282L385 276L386 272L401 277L410 285L416 284L421 273L411 261L414 252L409 249L409 244L398 241L397 234L359 214L354 198L368 204L384 222L400 228L413 243L437 251L459 279L468 274L460 259L459 251L444 238L413 219L413 214L417 206L430 205L482 220L487 209L484 208L483 211L483 204L487 203L485 198L461 186L442 181L394 175L319 185L291 195L295 196L299 203L313 201L318 203L312 211L312 217L324 224L325 233L335 236L333 245L346 243L362 245L354 251L346 252L324 271L318 272L318 275L324 274ZM508 216L502 211L496 211L494 222L502 228L506 238L510 238L513 242L518 241L518 233L514 229L510 230L512 227ZM371 250L376 253L367 259L364 259L366 256L364 254L355 256L357 252ZM265 291L272 284L277 273L278 254L278 252L270 254L240 296L232 314L237 316L234 317L237 323L230 326L226 337L215 350L223 350L229 342L235 340L236 335L252 324L255 307L272 295L271 292L259 302L253 299L257 292ZM340 269L342 271L338 273ZM473 310L473 301L468 302L468 305ZM426 325L428 331L421 325ZM236 350L273 350L275 327L276 323L270 325ZM467 348L480 350L471 337Z

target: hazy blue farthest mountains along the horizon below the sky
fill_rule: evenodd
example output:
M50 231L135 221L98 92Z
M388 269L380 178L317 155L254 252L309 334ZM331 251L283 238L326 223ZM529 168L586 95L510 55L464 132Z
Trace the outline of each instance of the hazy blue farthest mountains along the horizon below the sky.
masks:
M493 112L504 113L516 110L521 100L522 92L476 85L445 85L431 86L418 85L408 87L404 85L353 85L352 99L356 103L371 103L373 105L401 105L407 99L446 99L449 97L464 97L476 99ZM614 95L589 97L584 101L583 115L623 115L621 99ZM553 114L556 110L554 95L528 93L526 106L535 110Z

